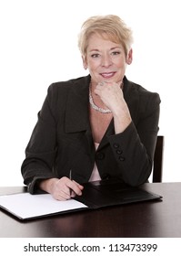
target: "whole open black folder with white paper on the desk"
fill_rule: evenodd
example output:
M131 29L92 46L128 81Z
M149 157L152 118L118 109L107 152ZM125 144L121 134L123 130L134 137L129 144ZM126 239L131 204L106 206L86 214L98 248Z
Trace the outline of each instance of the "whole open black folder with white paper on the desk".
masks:
M140 187L131 187L118 179L109 179L85 183L81 197L66 201L57 201L45 193L30 195L26 192L0 196L0 207L16 218L25 220L161 198Z

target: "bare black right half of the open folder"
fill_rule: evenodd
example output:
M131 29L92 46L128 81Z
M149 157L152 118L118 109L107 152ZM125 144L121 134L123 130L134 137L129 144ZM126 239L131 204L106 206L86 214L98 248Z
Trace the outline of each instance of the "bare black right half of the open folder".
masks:
M118 179L100 180L86 183L81 197L75 197L88 208L105 208L153 199L162 196L140 187L131 187Z

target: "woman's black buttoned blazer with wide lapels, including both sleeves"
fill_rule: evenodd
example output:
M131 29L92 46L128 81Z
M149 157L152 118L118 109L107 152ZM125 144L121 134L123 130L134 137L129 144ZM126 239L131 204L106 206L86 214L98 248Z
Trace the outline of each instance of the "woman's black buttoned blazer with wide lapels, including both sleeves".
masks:
M22 175L30 193L37 182L69 176L87 182L96 161L102 179L120 177L131 186L146 182L152 171L160 98L124 78L124 97L132 123L115 134L113 120L97 151L89 123L90 76L56 82L48 88L25 150Z

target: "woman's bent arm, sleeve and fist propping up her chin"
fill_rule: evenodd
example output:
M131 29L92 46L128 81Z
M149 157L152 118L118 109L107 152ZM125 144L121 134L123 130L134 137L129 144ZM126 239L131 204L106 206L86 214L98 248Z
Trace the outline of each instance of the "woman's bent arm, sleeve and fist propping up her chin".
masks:
M116 160L116 164L112 162L112 175L119 172L127 184L138 186L152 171L160 99L157 93L136 85L130 84L126 90L126 100L116 83L97 86L96 94L114 117L115 134L108 137Z

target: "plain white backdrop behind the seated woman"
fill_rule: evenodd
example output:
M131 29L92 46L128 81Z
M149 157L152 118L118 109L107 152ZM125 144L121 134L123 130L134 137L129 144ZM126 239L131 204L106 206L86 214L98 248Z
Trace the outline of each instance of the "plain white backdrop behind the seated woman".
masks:
M85 75L77 34L88 16L115 14L134 31L129 80L162 99L164 181L181 181L179 0L0 0L0 186L21 186L20 166L45 99L57 80Z

